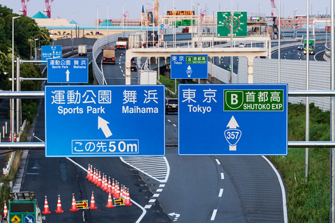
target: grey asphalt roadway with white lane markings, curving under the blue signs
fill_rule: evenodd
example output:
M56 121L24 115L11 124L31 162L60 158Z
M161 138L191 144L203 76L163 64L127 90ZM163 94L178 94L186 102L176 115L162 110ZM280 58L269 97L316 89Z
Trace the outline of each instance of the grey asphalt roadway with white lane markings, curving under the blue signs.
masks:
M107 84L124 84L124 54L117 56L116 65L102 66ZM131 77L136 84L137 72ZM43 103L39 111L34 141L44 141ZM165 119L166 144L177 144L177 114ZM126 185L133 205L105 208L107 193L86 179L89 164ZM179 157L176 147L167 147L166 157L121 159L45 158L44 151L30 151L22 191L36 192L42 211L47 196L52 214L44 215L45 222L287 221L285 190L265 157ZM69 211L73 193L91 203L92 192L97 210ZM61 214L54 213L58 194Z

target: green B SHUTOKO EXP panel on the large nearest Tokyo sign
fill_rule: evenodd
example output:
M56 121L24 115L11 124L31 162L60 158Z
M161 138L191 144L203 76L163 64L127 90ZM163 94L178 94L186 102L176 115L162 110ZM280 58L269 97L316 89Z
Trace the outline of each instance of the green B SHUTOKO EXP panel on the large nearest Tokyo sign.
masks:
M281 112L283 90L224 90L224 111Z

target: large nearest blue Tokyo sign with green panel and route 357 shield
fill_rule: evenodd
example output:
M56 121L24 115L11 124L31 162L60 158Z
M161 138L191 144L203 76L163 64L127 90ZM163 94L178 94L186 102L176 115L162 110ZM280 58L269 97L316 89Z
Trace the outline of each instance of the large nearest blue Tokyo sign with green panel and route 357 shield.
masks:
M287 84L179 84L179 155L287 155Z

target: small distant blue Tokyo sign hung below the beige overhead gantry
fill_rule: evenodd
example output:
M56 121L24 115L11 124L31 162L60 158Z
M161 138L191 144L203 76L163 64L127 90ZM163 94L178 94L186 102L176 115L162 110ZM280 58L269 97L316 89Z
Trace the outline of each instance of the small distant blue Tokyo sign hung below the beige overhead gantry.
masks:
M207 55L171 55L171 79L207 79Z

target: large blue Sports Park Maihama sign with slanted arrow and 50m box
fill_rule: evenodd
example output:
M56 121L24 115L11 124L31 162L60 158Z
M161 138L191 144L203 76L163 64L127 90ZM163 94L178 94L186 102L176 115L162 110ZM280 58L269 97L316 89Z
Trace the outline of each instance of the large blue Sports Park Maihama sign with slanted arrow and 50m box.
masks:
M45 86L45 157L163 155L163 85Z

